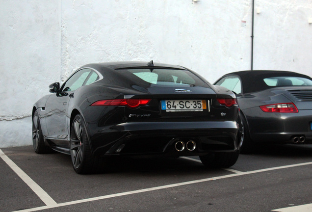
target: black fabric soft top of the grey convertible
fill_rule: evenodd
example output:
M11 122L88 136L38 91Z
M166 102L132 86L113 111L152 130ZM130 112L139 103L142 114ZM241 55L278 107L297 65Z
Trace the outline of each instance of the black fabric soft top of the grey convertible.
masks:
M238 71L224 75L238 76L242 81L243 93L252 93L260 90L268 89L263 79L270 77L301 77L311 79L311 77L290 71L270 71L270 70L254 70L254 71ZM312 80L312 79L311 79Z

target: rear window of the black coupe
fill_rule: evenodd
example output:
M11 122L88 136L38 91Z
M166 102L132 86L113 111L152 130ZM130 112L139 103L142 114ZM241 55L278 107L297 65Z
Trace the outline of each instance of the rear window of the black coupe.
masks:
M203 82L187 70L177 69L128 69L136 77L155 85L191 86Z

